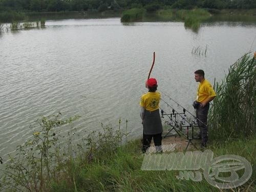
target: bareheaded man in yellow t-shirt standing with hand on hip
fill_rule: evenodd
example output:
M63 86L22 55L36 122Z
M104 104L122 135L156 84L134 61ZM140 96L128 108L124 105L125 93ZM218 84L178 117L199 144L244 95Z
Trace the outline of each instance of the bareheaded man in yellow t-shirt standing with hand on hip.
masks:
M197 89L197 100L194 104L197 114L197 122L199 125L199 138L202 139L201 147L206 147L208 141L207 114L209 110L209 102L216 97L215 91L211 84L204 78L204 71L195 71L196 82L199 82Z

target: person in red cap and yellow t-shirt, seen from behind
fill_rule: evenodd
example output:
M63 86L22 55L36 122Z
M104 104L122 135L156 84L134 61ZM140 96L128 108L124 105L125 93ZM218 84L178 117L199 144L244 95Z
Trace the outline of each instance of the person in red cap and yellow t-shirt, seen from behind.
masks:
M157 80L155 78L148 79L146 81L146 88L148 93L142 95L140 100L140 117L143 124L143 145L141 150L143 153L150 147L152 137L155 146L160 146L158 149L161 149L163 132L159 113L160 93L156 92Z

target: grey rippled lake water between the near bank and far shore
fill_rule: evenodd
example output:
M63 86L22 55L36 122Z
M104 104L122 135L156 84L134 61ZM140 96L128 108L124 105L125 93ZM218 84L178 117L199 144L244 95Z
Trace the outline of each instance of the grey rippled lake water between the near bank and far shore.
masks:
M0 33L0 156L31 138L41 115L58 112L81 116L63 133L86 136L101 123L117 129L121 118L129 138L142 135L139 101L154 51L151 77L159 91L194 112L194 71L221 81L232 63L255 51L255 37L256 22L213 20L195 33L181 22L123 25L120 18L47 20L45 29ZM206 55L192 53L206 46Z

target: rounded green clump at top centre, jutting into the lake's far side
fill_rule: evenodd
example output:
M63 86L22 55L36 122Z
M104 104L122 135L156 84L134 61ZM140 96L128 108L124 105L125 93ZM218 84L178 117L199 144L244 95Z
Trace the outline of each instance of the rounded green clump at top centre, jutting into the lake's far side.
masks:
M121 22L138 22L143 19L145 9L133 8L123 12Z

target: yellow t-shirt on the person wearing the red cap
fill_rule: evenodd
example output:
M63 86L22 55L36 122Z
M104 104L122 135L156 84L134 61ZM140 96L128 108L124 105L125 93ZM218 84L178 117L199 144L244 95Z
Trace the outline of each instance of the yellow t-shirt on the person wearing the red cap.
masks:
M147 111L155 111L159 109L160 97L159 92L148 92L141 96L140 106L143 106Z

